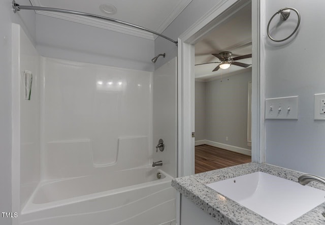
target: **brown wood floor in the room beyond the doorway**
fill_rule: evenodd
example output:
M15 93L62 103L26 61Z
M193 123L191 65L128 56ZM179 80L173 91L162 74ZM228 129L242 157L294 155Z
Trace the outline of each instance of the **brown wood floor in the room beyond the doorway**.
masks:
M251 156L212 147L210 145L198 145L195 147L195 173L202 173L250 162Z

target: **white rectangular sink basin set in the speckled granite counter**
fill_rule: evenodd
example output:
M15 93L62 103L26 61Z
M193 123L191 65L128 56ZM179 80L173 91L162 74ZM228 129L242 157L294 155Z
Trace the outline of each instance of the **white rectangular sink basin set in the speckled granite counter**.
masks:
M276 224L287 224L325 202L325 191L264 172L206 184Z

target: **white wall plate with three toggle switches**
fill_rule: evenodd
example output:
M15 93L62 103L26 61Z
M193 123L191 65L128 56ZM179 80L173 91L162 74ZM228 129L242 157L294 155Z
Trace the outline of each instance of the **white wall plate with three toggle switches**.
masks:
M298 119L298 96L266 99L265 119Z

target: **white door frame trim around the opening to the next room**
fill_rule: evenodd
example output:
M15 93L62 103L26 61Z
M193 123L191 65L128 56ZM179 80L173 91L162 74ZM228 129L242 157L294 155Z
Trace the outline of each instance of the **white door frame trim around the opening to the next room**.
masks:
M178 38L178 176L194 174L194 44L252 4L252 162L265 162L265 0L222 0ZM263 56L263 57L262 57Z

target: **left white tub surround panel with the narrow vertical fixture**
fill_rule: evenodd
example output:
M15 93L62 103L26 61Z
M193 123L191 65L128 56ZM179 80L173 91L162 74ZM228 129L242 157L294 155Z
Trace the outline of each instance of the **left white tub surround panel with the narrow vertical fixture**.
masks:
M12 210L18 213L40 181L40 58L19 24L12 25ZM30 100L24 72L32 73ZM28 95L28 92L27 92Z

